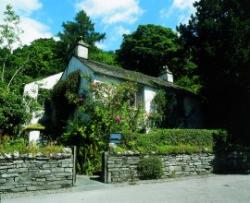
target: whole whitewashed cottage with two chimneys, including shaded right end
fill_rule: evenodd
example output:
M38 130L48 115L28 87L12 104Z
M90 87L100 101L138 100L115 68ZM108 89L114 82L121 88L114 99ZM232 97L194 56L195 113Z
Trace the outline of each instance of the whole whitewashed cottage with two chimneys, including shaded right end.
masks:
M140 98L143 102L147 114L151 112L151 103L159 90L164 88L170 93L174 100L172 104L173 120L169 123L170 127L186 127L186 128L202 128L203 115L199 100L192 93L173 84L173 75L168 67L164 67L164 72L159 77L151 77L139 72L130 71L100 62L88 59L88 45L83 41L79 41L74 54L72 55L68 66L63 73L50 76L41 81L27 84L24 88L24 95L29 95L32 98L37 98L39 89L52 89L59 80L66 79L71 73L79 71L83 75L91 77L95 83L116 84L125 81L131 81L140 84L140 89L136 98ZM88 85L87 80L81 77L80 92L84 91ZM135 99L136 102L136 99ZM34 112L32 124L38 122L43 112ZM171 115L172 114L172 115ZM39 132L31 132L30 140L37 140Z

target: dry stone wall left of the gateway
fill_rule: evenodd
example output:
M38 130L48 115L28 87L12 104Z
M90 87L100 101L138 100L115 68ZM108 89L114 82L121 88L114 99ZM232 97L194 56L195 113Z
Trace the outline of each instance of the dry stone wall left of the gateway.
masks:
M72 157L71 150L50 156L0 155L0 193L70 187Z

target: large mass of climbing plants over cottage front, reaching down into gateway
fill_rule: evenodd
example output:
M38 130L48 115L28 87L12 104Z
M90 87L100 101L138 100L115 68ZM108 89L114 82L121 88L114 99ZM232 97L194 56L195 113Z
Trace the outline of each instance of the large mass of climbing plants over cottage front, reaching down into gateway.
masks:
M79 90L80 79L86 86ZM101 154L108 148L111 133L133 132L145 128L145 115L140 103L134 105L138 86L96 83L75 72L53 89L47 109L47 131L52 139L65 145L77 145L79 173L101 170Z

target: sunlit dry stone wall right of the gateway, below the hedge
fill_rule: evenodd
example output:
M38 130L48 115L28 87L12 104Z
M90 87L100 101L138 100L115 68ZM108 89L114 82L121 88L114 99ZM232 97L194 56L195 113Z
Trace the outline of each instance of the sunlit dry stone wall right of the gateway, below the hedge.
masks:
M148 155L114 155L104 154L104 182L118 183L138 180L137 165L141 158ZM162 160L162 178L206 175L213 171L214 155L181 154L153 155Z

